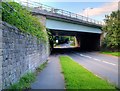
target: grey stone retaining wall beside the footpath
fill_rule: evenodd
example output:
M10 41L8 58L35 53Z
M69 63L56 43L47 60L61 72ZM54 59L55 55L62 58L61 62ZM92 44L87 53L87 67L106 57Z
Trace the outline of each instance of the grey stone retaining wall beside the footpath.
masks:
M22 33L5 22L0 34L3 40L0 41L0 60L2 59L2 88L4 89L17 82L26 72L34 71L45 62L49 56L49 48L48 43L30 34Z

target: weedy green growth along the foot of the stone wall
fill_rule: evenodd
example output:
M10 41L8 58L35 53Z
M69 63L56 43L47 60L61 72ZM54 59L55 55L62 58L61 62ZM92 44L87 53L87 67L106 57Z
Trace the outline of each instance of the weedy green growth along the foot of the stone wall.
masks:
M35 72L28 72L23 75L17 83L14 83L9 87L9 90L22 91L23 89L30 89L31 83L33 83L36 79L36 75L38 75L38 73L41 72L46 67L46 65L47 61L36 68Z

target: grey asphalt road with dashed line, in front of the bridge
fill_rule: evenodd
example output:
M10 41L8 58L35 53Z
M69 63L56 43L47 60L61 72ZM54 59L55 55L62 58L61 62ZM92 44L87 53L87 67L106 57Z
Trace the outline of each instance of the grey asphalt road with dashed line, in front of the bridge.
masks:
M70 52L67 55L95 75L118 86L118 57L98 52Z

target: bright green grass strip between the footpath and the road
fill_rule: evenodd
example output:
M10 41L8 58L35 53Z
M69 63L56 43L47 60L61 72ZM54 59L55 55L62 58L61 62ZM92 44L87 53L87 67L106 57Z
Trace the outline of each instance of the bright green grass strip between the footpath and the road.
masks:
M95 76L68 56L60 56L60 62L66 89L115 89L115 86Z

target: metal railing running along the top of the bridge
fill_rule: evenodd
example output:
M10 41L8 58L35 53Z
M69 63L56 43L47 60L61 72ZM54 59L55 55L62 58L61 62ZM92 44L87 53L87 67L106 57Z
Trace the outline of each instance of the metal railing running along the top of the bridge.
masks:
M74 19L84 21L84 22L87 22L87 23L93 23L93 24L96 24L96 25L104 25L104 23L101 22L101 21L97 21L97 20L91 19L89 17L85 17L85 16L82 16L82 15L79 15L79 14L76 14L76 13L66 11L66 10L53 8L51 6L44 5L44 4L41 4L39 2L33 2L33 1L30 1L30 0L28 2L24 2L24 1L22 1L22 2L16 1L16 2L20 3L21 5L23 5L25 8L27 8L31 12L35 11L35 10L37 10L38 12L39 11L45 11L45 12L48 12L48 13L65 16L66 18L74 18Z

